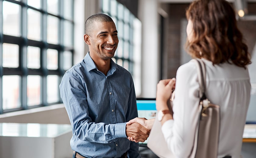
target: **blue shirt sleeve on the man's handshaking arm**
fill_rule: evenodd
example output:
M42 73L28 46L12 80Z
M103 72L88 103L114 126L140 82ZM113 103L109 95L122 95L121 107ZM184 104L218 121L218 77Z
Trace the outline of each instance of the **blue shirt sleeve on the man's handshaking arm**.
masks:
M126 138L126 123L95 123L89 117L87 97L82 81L74 73L66 72L60 84L60 94L69 115L72 132L78 139L95 143L112 143Z

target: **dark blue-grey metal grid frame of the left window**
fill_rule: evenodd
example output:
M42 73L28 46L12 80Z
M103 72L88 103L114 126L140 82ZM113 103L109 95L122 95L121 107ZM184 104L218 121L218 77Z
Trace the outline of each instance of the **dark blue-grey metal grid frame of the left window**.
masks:
M3 34L3 2L11 2L20 5L20 28L21 28L21 36L10 36ZM63 52L69 51L72 53L72 65L73 65L73 58L74 58L74 0L71 4L71 16L72 19L65 19L64 17L64 1L58 0L58 15L52 14L47 12L47 0L41 0L41 9L34 8L32 6L27 5L27 0L15 1L15 0L0 0L0 114L6 112L13 112L18 110L25 110L29 108L36 108L41 106L48 106L62 103L59 94L58 88L58 102L48 103L47 102L47 76L48 75L57 75L58 76L58 86L62 79L62 76L66 72L63 69ZM27 9L33 9L35 11L40 12L41 14L41 40L31 40L27 39ZM58 44L47 43L47 16L52 15L58 18ZM71 46L64 45L64 21L69 21L72 25L71 30ZM17 68L9 68L9 67L2 67L2 60L3 60L3 43L10 43L10 44L17 44L19 46L19 67ZM27 46L35 46L40 48L40 68L33 69L27 67ZM47 69L47 49L54 49L58 51L58 69L56 70L48 70ZM3 83L2 77L4 75L19 75L21 77L20 81L20 102L21 107L19 108L11 108L11 109L3 109ZM41 84L40 84L40 98L41 104L28 106L27 105L27 76L28 75L40 75L41 77ZM57 86L57 87L58 87Z

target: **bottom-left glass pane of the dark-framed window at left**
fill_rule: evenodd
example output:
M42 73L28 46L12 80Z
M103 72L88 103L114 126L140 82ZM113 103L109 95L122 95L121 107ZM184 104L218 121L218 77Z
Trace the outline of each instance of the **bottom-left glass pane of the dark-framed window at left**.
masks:
M20 108L20 76L3 76L3 110Z

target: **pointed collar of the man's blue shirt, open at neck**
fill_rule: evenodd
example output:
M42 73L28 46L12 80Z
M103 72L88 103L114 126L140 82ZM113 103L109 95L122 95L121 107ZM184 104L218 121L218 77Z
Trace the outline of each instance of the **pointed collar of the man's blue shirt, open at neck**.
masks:
M95 63L94 63L94 61L92 60L92 58L91 58L91 56L90 56L90 52L88 52L88 53L85 55L85 57L84 57L84 62L85 62L85 64L86 64L86 68L87 68L87 71L88 71L88 72L91 71L91 70L93 70L93 69L97 69L97 67L96 67L96 65L95 65ZM113 74L116 70L119 71L119 68L117 67L116 63L115 63L112 59L110 59L110 64L111 64L111 68L110 68L109 72L110 72L111 74Z

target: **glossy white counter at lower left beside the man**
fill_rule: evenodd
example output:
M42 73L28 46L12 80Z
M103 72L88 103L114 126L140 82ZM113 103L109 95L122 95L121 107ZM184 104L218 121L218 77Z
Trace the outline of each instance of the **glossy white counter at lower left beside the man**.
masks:
M0 157L70 158L71 125L0 123Z

